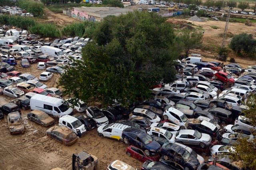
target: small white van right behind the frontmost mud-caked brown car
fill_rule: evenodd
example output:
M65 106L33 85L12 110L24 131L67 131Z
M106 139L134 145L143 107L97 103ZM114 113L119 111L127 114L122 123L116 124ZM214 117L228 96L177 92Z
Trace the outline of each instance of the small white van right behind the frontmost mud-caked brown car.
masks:
M69 128L79 137L84 136L84 134L86 133L86 128L84 127L84 124L82 124L82 122L76 117L72 117L70 115L64 115L60 117L59 126Z

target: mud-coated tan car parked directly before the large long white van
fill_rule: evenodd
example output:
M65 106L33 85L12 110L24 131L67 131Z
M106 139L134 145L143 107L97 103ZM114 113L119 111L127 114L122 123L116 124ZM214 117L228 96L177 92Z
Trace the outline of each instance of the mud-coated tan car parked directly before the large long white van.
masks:
M37 109L28 113L27 117L28 120L33 121L39 125L43 125L45 127L48 127L55 122L52 117L47 115L45 112Z

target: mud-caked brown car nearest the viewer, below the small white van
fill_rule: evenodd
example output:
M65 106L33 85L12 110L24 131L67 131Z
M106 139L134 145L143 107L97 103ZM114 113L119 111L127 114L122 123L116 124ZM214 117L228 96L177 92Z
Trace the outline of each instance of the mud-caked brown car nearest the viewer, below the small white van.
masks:
M74 144L77 140L77 135L75 132L62 126L54 126L49 128L46 131L46 135L66 146Z

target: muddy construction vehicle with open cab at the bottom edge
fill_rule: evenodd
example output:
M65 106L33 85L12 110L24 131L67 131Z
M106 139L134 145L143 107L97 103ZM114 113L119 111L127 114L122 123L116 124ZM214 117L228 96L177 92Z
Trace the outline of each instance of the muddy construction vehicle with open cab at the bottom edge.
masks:
M72 170L98 170L98 158L87 152L72 155Z

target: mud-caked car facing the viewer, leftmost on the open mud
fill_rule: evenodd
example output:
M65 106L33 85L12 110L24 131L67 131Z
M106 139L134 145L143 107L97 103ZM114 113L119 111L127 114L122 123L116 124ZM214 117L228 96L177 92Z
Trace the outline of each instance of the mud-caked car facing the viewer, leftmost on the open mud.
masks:
M9 113L7 122L10 134L24 134L25 126L19 112Z

